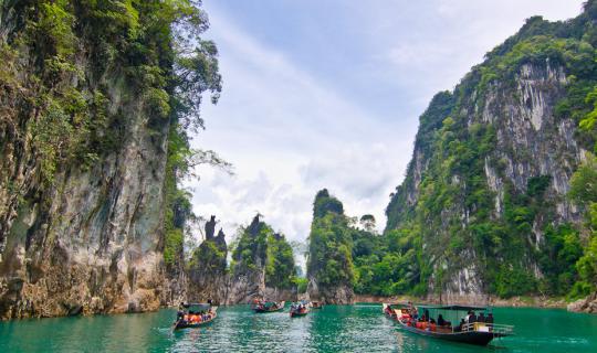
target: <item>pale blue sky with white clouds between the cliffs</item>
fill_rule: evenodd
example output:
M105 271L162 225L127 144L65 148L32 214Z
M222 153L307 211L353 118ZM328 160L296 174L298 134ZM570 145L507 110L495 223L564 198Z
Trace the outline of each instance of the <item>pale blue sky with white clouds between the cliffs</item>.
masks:
M255 213L305 243L315 193L383 231L404 179L418 117L525 19L577 15L582 0L203 0L223 90L206 99L192 146L234 174L202 165L186 181L197 215L230 240Z

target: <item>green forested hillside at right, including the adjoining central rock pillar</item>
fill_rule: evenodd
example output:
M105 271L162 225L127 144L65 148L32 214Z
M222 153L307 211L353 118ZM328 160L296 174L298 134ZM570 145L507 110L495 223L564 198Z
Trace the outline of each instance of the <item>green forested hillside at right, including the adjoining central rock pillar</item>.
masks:
M595 292L596 46L597 1L566 22L531 18L438 93L383 235L321 191L310 292L467 302Z

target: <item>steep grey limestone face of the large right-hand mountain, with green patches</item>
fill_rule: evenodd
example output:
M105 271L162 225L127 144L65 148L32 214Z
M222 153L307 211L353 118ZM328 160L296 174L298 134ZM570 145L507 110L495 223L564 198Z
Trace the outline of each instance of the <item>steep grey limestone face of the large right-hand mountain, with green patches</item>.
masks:
M417 281L429 299L486 302L490 293L569 290L569 280L557 282L563 269L549 264L558 232L583 244L574 231L583 214L566 194L594 143L579 133L569 106L575 90L597 76L545 47L562 36L584 45L588 36L572 29L593 28L590 15L567 23L530 19L421 116L406 179L386 210L386 232L420 240L412 246ZM578 46L573 51L580 55ZM574 274L574 258L570 266Z

